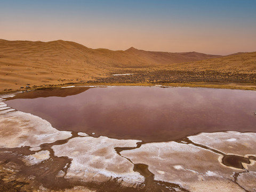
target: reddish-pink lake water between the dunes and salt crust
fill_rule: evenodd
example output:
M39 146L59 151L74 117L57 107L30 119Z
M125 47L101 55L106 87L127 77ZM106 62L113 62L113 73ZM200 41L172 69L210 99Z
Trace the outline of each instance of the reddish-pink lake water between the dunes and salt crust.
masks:
M65 94L68 90L74 94L74 89L65 89ZM32 92L18 97L26 94ZM61 91L59 97L33 94L34 99L14 97L6 103L46 119L58 130L145 142L177 140L199 132L256 131L256 91L117 86L67 97L61 97Z

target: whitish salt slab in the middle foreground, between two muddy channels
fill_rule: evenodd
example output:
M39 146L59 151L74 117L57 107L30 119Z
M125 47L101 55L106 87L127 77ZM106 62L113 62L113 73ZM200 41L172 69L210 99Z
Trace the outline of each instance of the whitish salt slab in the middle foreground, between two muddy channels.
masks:
M124 185L136 185L145 181L138 172L133 171L133 164L119 156L115 147L135 147L138 140L118 140L107 137L84 137L70 139L66 144L53 146L58 157L72 158L65 178L90 181L108 181L122 179Z

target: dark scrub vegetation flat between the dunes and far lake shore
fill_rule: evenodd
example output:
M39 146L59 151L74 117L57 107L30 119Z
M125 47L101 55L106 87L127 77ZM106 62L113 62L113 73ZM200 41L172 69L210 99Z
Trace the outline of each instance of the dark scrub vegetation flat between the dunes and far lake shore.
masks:
M217 82L217 83L252 83L256 84L256 74L232 73L219 71L184 71L184 70L129 70L122 74L133 75L109 76L97 78L89 83L191 83L191 82Z

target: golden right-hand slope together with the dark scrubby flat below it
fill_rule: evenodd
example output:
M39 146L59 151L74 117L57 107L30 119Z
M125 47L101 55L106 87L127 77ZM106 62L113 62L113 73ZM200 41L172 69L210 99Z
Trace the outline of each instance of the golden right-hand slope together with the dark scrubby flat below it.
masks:
M97 83L162 84L256 90L256 52L147 68L125 68Z

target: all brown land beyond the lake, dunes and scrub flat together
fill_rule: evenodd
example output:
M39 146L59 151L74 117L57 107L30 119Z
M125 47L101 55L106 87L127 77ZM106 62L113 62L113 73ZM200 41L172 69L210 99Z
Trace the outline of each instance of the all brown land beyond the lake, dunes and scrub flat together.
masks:
M113 76L113 74L133 75ZM222 57L197 52L169 53L90 49L68 41L0 39L0 92L63 84L164 84L255 89L256 52Z

